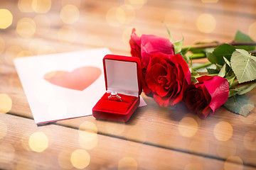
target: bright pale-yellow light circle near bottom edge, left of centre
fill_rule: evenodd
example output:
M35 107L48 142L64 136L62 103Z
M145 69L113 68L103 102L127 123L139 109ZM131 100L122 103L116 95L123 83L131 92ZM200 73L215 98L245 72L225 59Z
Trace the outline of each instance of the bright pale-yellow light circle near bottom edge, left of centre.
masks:
M84 169L90 164L90 154L84 149L76 149L70 157L71 164L77 169Z

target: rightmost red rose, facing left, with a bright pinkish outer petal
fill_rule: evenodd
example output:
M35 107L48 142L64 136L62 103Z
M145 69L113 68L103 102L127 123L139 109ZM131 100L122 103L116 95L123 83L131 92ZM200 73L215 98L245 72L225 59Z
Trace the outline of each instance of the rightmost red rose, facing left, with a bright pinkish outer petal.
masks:
M190 84L186 91L185 103L189 110L206 118L228 100L229 85L223 77L202 76L198 83Z

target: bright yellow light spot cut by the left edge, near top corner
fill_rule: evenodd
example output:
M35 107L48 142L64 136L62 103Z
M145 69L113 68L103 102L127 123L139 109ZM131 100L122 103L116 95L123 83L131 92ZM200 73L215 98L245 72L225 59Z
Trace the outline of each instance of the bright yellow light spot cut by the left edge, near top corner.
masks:
M6 29L11 26L13 16L8 9L0 9L0 29Z

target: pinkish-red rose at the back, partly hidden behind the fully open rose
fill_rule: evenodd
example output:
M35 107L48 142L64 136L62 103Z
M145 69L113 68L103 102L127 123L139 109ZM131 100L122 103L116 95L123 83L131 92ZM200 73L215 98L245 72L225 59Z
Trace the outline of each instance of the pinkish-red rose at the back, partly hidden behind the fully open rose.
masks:
M156 35L142 35L139 38L135 33L135 29L132 30L129 44L132 56L141 59L142 69L146 68L149 64L151 54L162 52L166 55L174 55L174 45L170 40Z

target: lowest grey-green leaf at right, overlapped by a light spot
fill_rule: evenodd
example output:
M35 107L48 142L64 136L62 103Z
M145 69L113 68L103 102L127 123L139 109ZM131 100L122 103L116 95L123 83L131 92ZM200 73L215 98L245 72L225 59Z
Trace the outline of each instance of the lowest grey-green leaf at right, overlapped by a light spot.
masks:
M224 106L229 111L246 117L247 114L250 113L250 111L252 111L252 109L255 107L255 103L253 103L248 96L243 94L228 98L228 101L226 101Z

